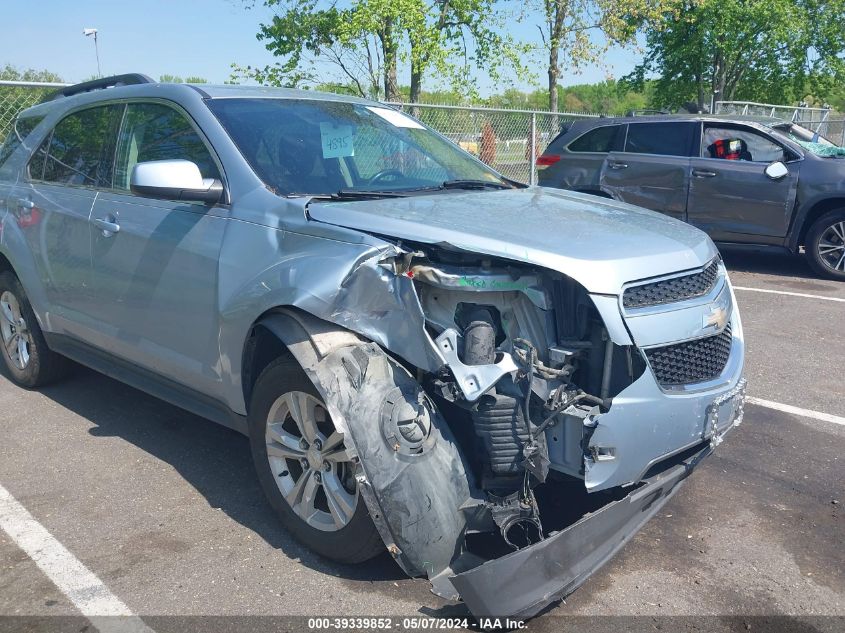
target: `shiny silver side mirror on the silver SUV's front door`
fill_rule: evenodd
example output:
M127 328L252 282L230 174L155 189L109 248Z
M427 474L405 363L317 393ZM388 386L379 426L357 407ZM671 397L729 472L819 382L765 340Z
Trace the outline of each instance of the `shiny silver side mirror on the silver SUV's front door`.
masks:
M223 197L223 183L203 178L189 160L151 160L138 163L129 177L129 190L162 200L186 200L215 204Z

